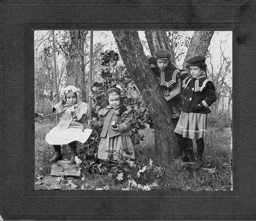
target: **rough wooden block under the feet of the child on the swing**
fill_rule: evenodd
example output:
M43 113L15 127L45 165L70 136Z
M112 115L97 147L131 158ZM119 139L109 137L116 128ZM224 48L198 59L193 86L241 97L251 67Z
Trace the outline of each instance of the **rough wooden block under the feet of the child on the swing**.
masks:
M58 160L52 164L51 175L54 176L80 176L77 164L69 164L69 160Z

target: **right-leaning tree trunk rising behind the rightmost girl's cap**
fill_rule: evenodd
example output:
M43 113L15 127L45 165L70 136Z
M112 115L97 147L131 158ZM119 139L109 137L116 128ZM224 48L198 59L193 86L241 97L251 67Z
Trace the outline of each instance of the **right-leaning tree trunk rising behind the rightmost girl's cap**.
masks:
M206 55L213 33L214 31L195 31L193 37L191 38L189 49L183 62L184 69L187 65L186 61L188 61L191 57Z

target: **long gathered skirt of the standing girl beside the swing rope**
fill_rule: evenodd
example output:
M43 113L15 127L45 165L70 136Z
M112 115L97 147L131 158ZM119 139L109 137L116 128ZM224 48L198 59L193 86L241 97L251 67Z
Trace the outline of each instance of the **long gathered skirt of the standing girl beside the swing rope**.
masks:
M131 138L128 135L109 137L109 134L107 134L106 137L101 138L97 157L99 159L117 160L119 158L120 150L128 151L128 154L125 154L125 158L135 158Z

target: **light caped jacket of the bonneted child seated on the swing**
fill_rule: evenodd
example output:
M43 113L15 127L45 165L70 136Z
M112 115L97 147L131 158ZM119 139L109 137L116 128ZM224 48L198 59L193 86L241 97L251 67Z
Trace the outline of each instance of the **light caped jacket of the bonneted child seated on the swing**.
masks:
M67 128L80 128L84 130L83 119L84 114L87 114L89 110L89 104L78 101L74 106L69 106L68 104L62 104L59 102L55 103L56 98L50 100L53 112L56 111L57 114L61 113L61 121L56 126L58 130L63 131ZM92 110L95 110L96 102L92 101Z

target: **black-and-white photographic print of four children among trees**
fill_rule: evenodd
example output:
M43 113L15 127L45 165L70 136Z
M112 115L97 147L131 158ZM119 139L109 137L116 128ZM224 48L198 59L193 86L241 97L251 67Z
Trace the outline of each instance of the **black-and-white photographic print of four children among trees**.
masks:
M35 30L34 53L35 189L232 191L232 31Z

